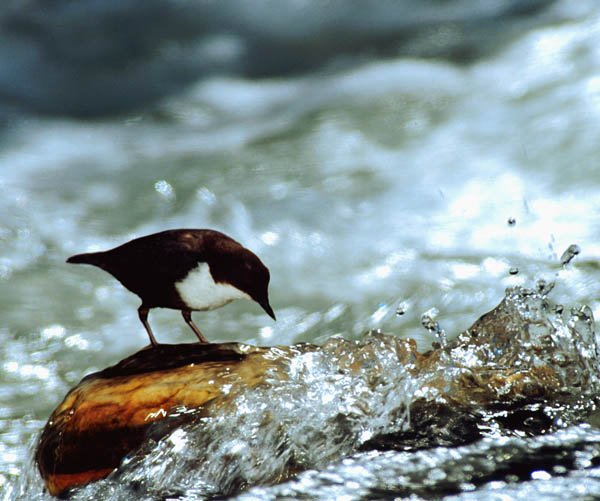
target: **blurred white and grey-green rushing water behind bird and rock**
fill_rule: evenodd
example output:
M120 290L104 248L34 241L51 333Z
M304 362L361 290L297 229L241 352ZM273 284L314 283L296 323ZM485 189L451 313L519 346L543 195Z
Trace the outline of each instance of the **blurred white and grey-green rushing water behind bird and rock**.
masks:
M423 313L452 337L540 278L598 315L599 117L596 0L4 0L1 488L70 387L148 342L138 298L74 253L231 235L278 321L196 313L217 342L427 349Z

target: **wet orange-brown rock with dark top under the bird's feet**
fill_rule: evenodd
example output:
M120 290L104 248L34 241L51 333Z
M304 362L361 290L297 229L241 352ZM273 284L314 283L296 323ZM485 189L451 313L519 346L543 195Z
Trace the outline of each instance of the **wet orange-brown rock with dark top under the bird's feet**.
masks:
M254 361L264 362L265 351L163 344L85 377L52 413L38 443L36 461L48 491L58 495L106 477L141 445L152 423L175 409L201 409L228 385L257 384L261 371Z

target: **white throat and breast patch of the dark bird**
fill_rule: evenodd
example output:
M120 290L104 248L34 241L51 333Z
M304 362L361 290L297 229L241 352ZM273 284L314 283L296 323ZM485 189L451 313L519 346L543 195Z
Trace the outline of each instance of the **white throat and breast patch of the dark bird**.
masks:
M176 282L175 288L192 310L213 310L234 299L252 299L232 285L216 283L206 263L200 263L183 280Z

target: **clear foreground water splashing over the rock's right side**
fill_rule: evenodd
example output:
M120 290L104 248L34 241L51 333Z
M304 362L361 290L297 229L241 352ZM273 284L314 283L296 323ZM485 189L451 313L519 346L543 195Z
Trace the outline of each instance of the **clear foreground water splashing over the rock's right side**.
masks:
M285 356L257 389L232 384L227 399L180 410L197 417L160 439L151 431L140 453L74 499L233 495L303 470L317 471L242 499L470 492L491 478L514 480L523 458L540 454L563 473L576 471L575 450L600 456L597 432L564 430L596 409L598 346L591 310L563 318L551 289L543 281L507 289L445 350L424 355L377 331L272 348ZM540 433L548 437L522 440ZM33 487L21 486L41 499Z

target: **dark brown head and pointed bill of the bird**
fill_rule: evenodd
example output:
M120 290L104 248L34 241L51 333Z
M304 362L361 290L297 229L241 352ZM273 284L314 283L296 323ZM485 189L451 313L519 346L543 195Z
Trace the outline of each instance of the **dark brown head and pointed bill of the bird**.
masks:
M221 250L218 257L210 263L210 272L215 282L230 283L237 287L276 320L269 304L271 274L256 254L242 246L231 253Z

